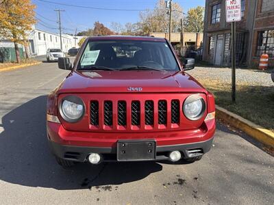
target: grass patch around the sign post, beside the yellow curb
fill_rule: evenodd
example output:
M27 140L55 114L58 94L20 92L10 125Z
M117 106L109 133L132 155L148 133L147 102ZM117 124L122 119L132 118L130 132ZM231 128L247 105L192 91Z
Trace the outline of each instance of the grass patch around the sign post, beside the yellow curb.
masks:
M231 85L218 80L197 80L215 96L216 104L242 118L274 131L274 87L236 85L236 103L232 103Z

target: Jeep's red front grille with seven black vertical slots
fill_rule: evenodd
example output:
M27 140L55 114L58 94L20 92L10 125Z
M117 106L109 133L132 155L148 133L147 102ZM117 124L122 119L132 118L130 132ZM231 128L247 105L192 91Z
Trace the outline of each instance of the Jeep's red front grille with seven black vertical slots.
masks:
M155 129L179 128L179 126L171 126L171 124L180 124L180 113L180 100L178 99L118 100L116 102L103 100L102 107L99 100L90 101L92 129L138 130L138 128L144 127L151 129L149 126L153 126ZM132 126L138 126L138 128Z

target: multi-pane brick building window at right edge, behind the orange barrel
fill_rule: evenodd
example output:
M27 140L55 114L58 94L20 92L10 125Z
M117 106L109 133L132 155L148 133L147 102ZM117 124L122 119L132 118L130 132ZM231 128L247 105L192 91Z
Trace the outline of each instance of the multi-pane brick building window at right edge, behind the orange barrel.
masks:
M267 53L269 57L274 57L274 29L258 32L258 43L256 55Z

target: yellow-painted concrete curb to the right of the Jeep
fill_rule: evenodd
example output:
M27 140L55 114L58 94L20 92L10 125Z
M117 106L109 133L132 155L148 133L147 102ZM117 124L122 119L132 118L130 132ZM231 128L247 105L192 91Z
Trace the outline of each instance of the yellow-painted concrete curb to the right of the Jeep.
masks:
M225 120L225 122L228 122L232 126L247 133L254 139L274 148L274 133L269 131L268 129L263 128L262 126L253 122L250 122L249 120L246 120L245 118L242 118L235 113L227 111L226 109L223 109L218 105L216 105L216 118Z

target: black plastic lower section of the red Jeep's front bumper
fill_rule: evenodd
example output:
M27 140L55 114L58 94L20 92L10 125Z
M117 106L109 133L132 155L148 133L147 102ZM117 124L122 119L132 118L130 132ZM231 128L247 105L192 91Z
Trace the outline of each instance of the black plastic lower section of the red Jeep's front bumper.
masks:
M182 157L188 159L193 154L205 154L212 146L212 137L207 141L196 143L178 144L172 146L156 146L155 161L169 160L169 152L178 150L182 152ZM62 159L84 162L90 153L98 153L103 156L103 161L117 161L117 148L99 148L99 147L82 147L82 146L66 146L49 140L49 146L55 156ZM195 153L194 153L195 152Z

